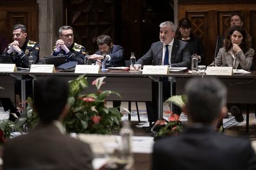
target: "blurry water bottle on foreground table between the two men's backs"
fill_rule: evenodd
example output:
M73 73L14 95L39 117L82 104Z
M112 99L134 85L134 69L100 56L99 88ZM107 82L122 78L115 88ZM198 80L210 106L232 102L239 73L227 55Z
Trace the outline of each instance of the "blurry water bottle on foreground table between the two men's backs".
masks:
M124 163L133 163L134 158L132 155L132 136L134 132L132 131L132 128L130 127L129 121L124 121L122 123L122 128L120 130L120 136L121 136L121 146L120 146L120 152L121 152L121 160Z

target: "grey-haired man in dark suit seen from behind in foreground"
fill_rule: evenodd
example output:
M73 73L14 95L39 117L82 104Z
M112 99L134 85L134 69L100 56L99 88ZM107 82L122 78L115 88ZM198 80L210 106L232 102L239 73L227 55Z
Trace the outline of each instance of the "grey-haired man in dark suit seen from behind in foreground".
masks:
M247 139L215 131L226 111L227 90L215 78L191 79L186 84L187 129L156 141L152 169L256 169L256 156Z

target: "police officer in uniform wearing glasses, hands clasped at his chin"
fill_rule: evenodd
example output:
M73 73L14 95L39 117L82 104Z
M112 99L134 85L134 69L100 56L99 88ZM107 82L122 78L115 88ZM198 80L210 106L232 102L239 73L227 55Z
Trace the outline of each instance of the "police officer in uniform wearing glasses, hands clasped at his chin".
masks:
M53 56L64 55L67 62L76 61L84 64L85 47L74 42L73 28L61 26L59 28L59 39L53 49Z

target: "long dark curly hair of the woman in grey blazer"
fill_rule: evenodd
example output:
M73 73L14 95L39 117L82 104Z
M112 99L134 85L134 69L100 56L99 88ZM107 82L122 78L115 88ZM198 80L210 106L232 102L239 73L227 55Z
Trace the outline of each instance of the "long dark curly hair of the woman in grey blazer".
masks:
M228 34L224 40L224 47L226 49L226 52L228 52L233 46L233 44L231 42L231 36L234 33L234 31L239 31L239 33L242 34L242 42L239 45L239 47L241 47L241 49L244 53L247 52L250 49L250 47L252 47L252 44L250 42L249 35L247 34L247 32L245 31L245 29L242 26L233 26L228 31Z

